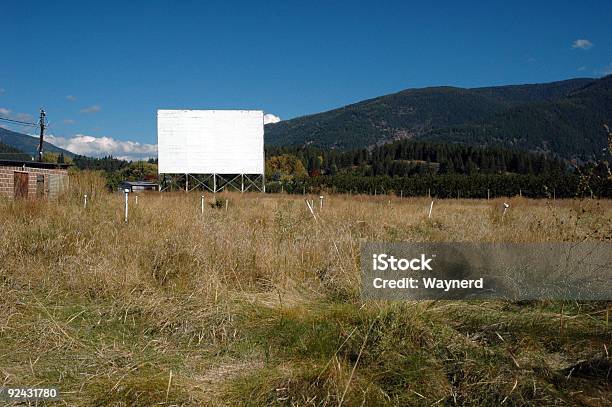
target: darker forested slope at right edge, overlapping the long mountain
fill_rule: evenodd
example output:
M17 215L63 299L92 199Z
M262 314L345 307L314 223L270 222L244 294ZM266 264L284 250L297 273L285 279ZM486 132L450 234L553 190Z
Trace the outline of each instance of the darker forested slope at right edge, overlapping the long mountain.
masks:
M534 102L461 126L433 129L420 138L468 144L508 145L566 158L605 157L612 122L612 76L563 98Z

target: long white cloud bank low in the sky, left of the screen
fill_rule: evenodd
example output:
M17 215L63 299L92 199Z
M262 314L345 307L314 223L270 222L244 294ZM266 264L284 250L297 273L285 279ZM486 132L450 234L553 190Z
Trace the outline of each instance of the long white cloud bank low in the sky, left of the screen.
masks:
M75 154L87 155L89 157L112 155L124 160L142 160L157 157L157 144L116 140L112 137L94 137L84 134L76 134L73 137L48 135L46 140Z

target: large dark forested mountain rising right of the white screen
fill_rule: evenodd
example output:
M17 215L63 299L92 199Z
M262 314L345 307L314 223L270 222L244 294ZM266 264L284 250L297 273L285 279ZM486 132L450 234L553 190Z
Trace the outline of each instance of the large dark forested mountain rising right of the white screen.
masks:
M266 143L364 148L431 139L597 158L612 122L611 77L533 85L408 89L266 125Z

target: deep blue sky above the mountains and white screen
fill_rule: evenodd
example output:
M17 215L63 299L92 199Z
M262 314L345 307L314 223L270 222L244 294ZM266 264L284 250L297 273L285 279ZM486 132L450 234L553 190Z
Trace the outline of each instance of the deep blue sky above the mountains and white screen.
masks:
M0 114L44 106L56 143L89 155L151 154L158 108L289 119L412 87L612 73L609 1L4 0L0 21Z

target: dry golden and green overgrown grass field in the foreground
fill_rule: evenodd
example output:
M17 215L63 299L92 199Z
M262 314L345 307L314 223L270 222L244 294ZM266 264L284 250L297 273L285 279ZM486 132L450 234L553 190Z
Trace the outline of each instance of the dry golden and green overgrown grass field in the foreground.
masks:
M612 239L604 200L0 200L0 385L58 405L612 404L606 303L363 302L364 241ZM90 196L83 207L82 194ZM227 199L227 210L225 200ZM48 403L51 404L51 403Z

